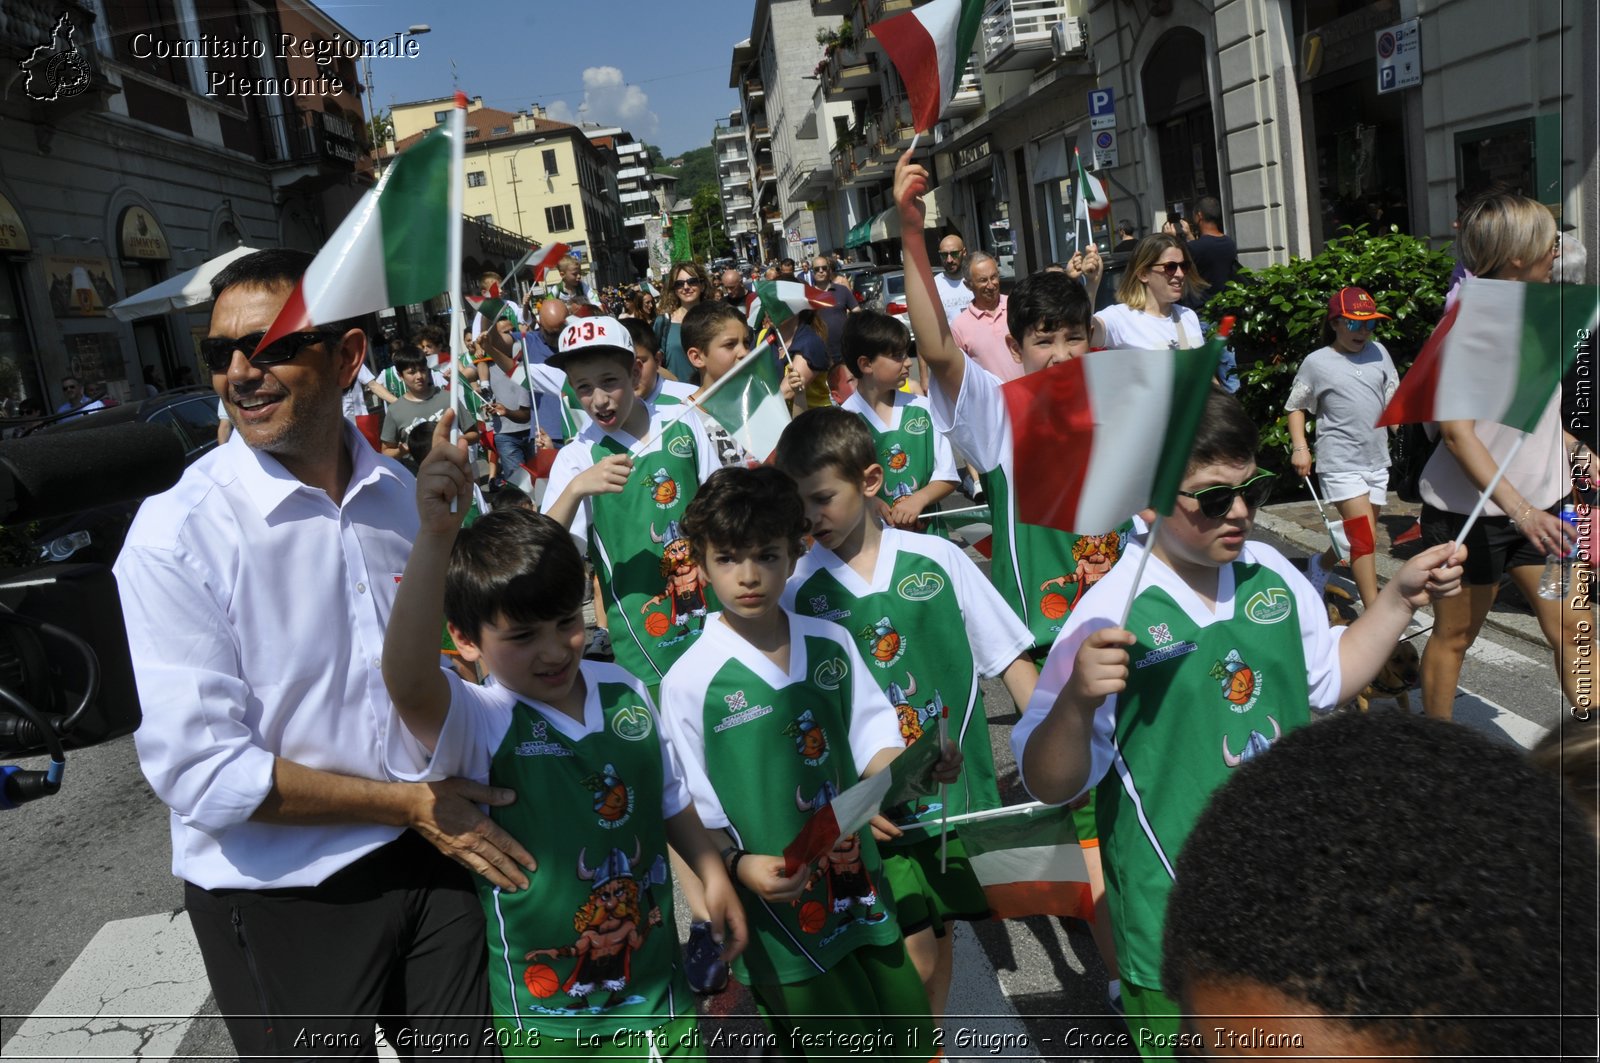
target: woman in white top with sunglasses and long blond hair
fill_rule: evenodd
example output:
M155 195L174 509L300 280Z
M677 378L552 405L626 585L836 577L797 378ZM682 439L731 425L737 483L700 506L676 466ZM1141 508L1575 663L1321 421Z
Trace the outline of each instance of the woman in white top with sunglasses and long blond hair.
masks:
M1094 315L1090 344L1134 351L1198 347L1205 343L1200 319L1179 301L1205 287L1182 240L1144 237L1117 282L1117 304Z

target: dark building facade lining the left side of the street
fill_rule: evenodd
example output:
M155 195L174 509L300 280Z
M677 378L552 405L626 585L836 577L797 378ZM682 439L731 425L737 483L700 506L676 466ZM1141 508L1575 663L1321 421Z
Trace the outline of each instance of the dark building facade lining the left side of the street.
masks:
M0 5L5 408L53 410L66 375L117 400L205 379L205 309L107 307L240 243L315 250L371 184L355 64L285 34L349 37L302 0Z

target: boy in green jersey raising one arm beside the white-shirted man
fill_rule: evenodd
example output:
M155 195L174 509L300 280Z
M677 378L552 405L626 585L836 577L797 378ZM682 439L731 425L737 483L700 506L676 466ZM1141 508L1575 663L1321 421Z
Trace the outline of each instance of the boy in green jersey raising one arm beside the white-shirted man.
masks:
M384 756L402 778L514 789L494 810L533 855L531 885L478 879L490 999L507 1057L704 1057L674 937L666 848L704 887L731 957L744 914L690 802L643 685L582 660L584 564L562 525L526 509L461 528L472 501L450 416L418 472L416 544L395 592L382 672L398 720ZM454 503L454 506L453 506ZM440 616L494 685L437 668ZM403 727L402 727L403 724Z

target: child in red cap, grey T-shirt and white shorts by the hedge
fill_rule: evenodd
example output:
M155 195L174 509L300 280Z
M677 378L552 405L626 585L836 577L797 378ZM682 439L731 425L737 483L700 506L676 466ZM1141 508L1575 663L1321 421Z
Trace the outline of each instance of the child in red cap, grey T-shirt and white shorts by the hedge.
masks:
M1389 437L1373 427L1400 386L1400 375L1384 344L1373 339L1379 320L1363 288L1341 288L1328 299L1323 341L1328 344L1306 355L1290 386L1290 463L1301 477L1310 475L1312 451L1306 443L1306 415L1317 418L1317 482L1339 517L1365 520L1378 528L1378 514L1389 499ZM1349 527L1349 525L1346 525ZM1354 552L1354 551L1352 551ZM1312 554L1306 578L1320 592L1339 560L1333 548ZM1350 559L1362 607L1378 600L1378 556Z

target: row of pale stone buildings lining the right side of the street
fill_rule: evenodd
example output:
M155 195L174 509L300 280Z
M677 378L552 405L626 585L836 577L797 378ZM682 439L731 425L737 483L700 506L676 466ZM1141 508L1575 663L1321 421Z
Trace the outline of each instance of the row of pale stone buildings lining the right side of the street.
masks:
M811 2L832 40L798 134L830 160L829 187L808 191L824 243L893 205L909 112L867 27L912 6ZM1075 157L1139 235L1218 197L1245 266L1315 255L1358 224L1445 245L1458 194L1491 184L1592 239L1597 54L1597 5L1579 0L990 0L918 158L938 226L1002 275L1085 239Z

